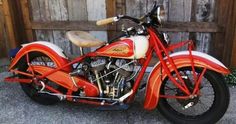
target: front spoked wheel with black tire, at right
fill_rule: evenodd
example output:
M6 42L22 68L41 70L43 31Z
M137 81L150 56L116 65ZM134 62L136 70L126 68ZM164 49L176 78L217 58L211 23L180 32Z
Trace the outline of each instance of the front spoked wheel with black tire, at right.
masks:
M195 69L200 75L202 69ZM179 72L188 89L193 91L192 68L181 68ZM175 76L176 74L172 74ZM161 98L158 110L177 124L213 124L226 112L229 105L229 90L221 74L207 70L203 75L199 95L188 99ZM168 78L164 80L160 94L184 96Z

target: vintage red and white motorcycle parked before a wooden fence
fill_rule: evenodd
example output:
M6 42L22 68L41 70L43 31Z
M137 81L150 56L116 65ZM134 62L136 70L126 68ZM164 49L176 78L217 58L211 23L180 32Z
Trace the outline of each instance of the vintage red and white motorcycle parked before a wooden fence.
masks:
M83 31L67 32L67 38L81 51L74 60L49 42L23 44L12 55L9 71L14 75L5 81L19 82L27 96L40 104L67 100L105 109L127 109L140 88L146 88L144 109L157 109L174 123L215 123L229 105L222 75L230 71L212 56L194 51L191 40L171 44L167 35L158 31L163 11L155 4L139 19L118 15L97 21L97 25L120 20L136 23L110 42ZM183 46L187 50L174 52ZM86 47L98 48L84 54ZM159 62L141 85L154 55Z

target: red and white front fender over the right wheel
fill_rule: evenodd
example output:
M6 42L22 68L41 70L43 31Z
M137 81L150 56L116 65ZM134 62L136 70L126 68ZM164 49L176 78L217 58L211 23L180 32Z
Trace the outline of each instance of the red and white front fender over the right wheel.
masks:
M196 67L206 67L209 70L213 70L221 74L230 73L230 71L220 61L213 58L212 56L197 51L192 51L192 56L194 59L194 65ZM189 51L177 52L171 54L170 57L173 59L177 68L191 67L191 60L189 59L190 57ZM174 71L171 65L169 65L169 68L171 72ZM160 74L161 74L161 64L159 62L154 66L148 78L146 97L144 102L144 108L147 110L152 110L156 108L158 104L162 80L164 80L167 77L167 74L163 70L162 70L162 76Z

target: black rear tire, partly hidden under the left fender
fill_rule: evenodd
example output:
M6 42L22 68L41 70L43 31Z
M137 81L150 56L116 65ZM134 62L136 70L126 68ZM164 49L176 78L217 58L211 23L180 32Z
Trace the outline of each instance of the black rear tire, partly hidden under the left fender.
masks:
M29 54L29 60L30 60L30 63L32 64L32 62L35 62L35 64L37 65L42 65L42 63L38 62L37 63L37 59L38 58L42 58L42 57L45 57L47 58L48 60L46 61L50 61L51 59L46 56L45 54L43 53L39 53L39 52L33 52L33 53L30 53ZM38 60L39 61L39 60ZM52 61L52 60L51 60ZM52 61L53 62L53 61ZM49 62L48 62L49 63ZM47 65L48 65L47 63ZM55 65L55 62L53 62L54 65ZM50 65L53 65L52 63L50 63ZM18 70L19 71L22 71L22 72L26 72L26 73L29 73L27 72L27 69L28 69L28 65L27 65L27 62L26 62L26 57L23 57L23 59L21 59L20 61L20 64L18 66ZM24 75L19 75L18 76L19 78L23 79L23 78L29 78L29 77L26 77ZM47 81L47 83L49 83L49 81ZM55 83L53 82L50 82L50 84L53 84L54 85L54 88L56 87L56 89L59 89L61 87L59 86L55 86ZM26 83L20 83L21 85L21 88L22 90L25 92L25 94L30 97L33 101L39 103L39 104L42 104L42 105L54 105L56 103L58 103L60 100L57 96L52 96L52 95L49 95L49 94L42 94L42 93L38 93L38 91L40 90L39 87L36 87L34 85L34 83L30 83L30 84L26 84ZM48 84L47 84L48 85Z

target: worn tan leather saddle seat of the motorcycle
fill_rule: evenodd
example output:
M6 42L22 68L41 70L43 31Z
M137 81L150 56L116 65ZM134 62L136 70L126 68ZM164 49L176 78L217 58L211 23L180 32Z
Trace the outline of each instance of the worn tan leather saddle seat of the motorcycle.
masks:
M66 37L78 47L99 47L106 43L84 31L68 31Z

